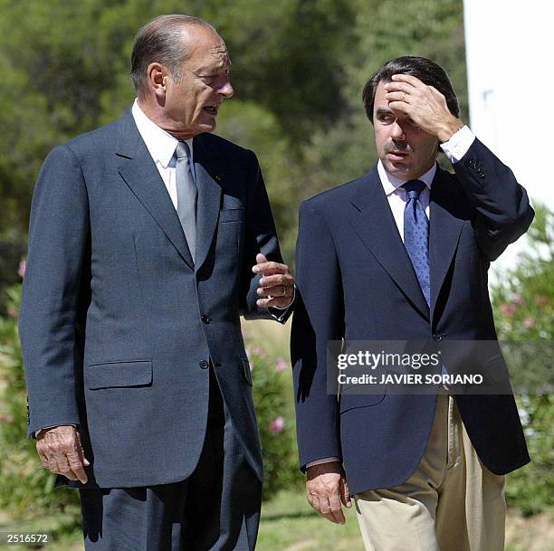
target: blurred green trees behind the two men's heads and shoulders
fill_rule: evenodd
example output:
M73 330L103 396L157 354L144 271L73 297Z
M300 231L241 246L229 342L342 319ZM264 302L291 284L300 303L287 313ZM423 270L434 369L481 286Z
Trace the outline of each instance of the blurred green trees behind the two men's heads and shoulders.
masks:
M429 55L465 104L462 0L0 0L0 237L26 233L47 152L128 109L132 38L169 13L214 23L229 47L218 132L259 155L290 263L300 201L376 160L360 94L380 62Z

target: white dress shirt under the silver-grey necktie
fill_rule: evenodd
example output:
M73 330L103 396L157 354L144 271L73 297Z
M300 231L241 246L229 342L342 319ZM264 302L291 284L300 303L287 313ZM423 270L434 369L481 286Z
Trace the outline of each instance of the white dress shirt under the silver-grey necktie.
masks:
M166 132L163 128L159 128L158 125L144 114L144 111L140 109L139 101L135 100L133 107L131 108L133 119L135 124L139 128L139 134L144 140L144 143L148 147L148 152L152 156L152 160L156 163L159 176L162 177L164 184L167 188L167 193L171 197L171 201L177 210L177 180L176 180L176 164L177 158L175 157L175 150L177 148L177 138L174 138ZM193 152L193 139L186 140L188 147L190 148L190 169L193 177L196 179L194 152Z

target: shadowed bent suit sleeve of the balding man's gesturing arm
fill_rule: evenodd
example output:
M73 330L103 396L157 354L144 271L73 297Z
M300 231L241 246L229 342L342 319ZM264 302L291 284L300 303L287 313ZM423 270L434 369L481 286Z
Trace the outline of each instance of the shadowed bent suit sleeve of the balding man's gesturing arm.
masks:
M256 254L262 252L268 261L275 262L282 262L282 255L262 170L255 154L249 151L249 155L251 163L241 272L241 314L246 319L276 319L280 323L285 323L291 316L293 304L287 309L260 308L256 305L256 300L259 299L256 291L262 278L252 271L256 263Z

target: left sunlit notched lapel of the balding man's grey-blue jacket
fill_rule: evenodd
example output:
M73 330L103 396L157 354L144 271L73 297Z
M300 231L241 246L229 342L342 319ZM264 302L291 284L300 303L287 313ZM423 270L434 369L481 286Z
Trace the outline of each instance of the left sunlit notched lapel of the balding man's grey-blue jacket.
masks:
M116 153L125 160L119 166L119 174L156 220L187 266L194 270L192 256L175 206L159 176L158 168L150 156L148 147L140 137L130 111L120 120L120 123L120 138Z

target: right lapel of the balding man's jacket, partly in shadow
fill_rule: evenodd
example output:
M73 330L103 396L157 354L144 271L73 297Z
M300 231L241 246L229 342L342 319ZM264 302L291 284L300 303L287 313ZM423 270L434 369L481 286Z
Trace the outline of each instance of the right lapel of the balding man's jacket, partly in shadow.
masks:
M217 172L215 158L211 155L202 135L194 139L193 147L198 187L196 214L196 271L198 271L204 264L214 240L222 195L221 185L215 181L215 178L221 179L223 176Z

